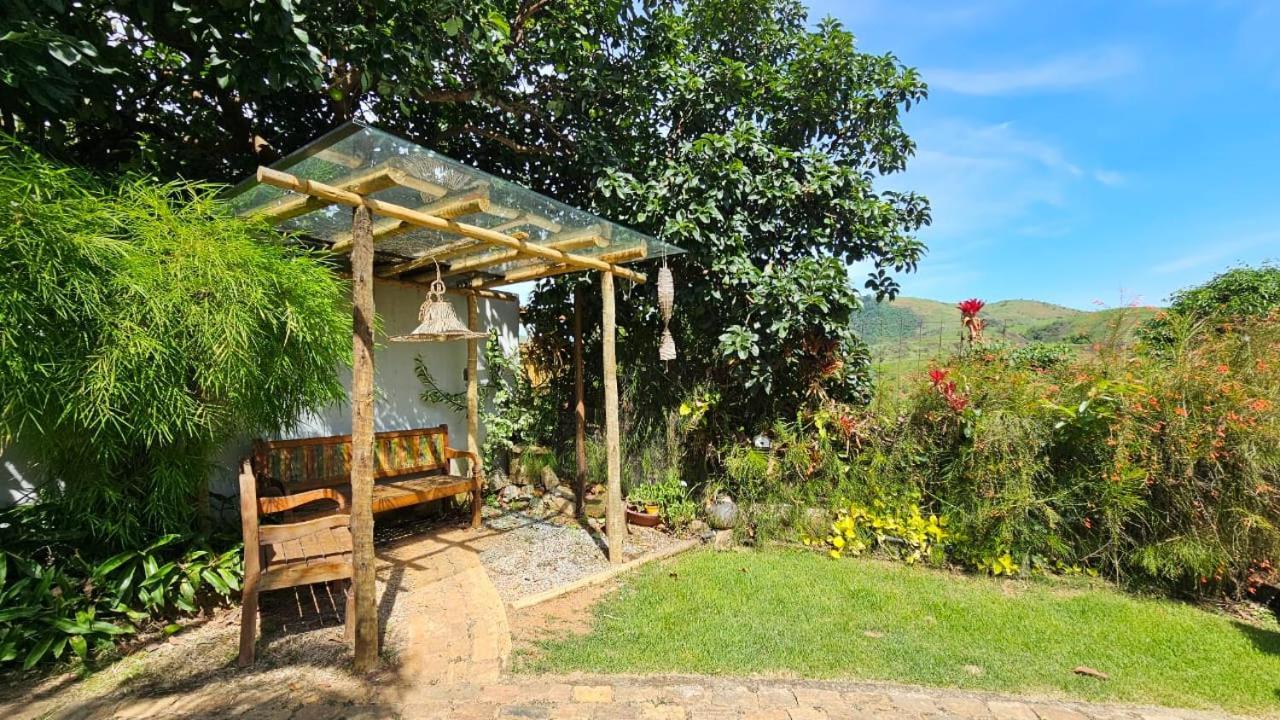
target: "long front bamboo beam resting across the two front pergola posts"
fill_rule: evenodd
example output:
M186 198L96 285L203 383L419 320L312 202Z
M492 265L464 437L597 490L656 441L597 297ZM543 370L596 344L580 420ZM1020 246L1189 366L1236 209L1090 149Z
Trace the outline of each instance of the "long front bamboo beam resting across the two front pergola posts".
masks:
M365 197L358 192L352 192L349 190L333 187L332 184L325 184L323 182L302 179L289 173L273 170L271 168L260 167L257 169L257 181L274 187L292 190L302 195L315 196L325 201L326 204L338 202L342 205L349 205L352 208L361 208L361 206L369 208L374 213L385 215L388 218L404 220L413 225L460 234L462 237L471 237L483 242L488 242L490 245L499 245L503 247L508 247L511 250L521 250L527 252L529 255L535 255L557 263L576 265L589 270L600 270L604 273L609 273L612 275L618 275L621 278L630 279L632 282L643 283L646 279L644 273L637 273L635 270L613 265L603 260L596 260L594 258L586 258L582 255L575 255L572 252L564 252L563 250L541 247L539 245L529 242L527 240L516 240L509 234L494 232L489 228L481 228L479 225L471 225L466 223L458 223L456 220L436 218L435 215L419 213L410 208L404 208L403 205L396 205L394 202L385 202L381 200L375 200L372 197Z

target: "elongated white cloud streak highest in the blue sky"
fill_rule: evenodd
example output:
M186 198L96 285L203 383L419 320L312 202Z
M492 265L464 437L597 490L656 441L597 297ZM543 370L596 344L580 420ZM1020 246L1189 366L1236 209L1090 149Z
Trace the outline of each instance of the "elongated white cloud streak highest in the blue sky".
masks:
M932 88L963 95L1016 95L1053 92L1094 86L1133 73L1137 55L1124 47L1075 53L1019 67L956 70L924 70Z

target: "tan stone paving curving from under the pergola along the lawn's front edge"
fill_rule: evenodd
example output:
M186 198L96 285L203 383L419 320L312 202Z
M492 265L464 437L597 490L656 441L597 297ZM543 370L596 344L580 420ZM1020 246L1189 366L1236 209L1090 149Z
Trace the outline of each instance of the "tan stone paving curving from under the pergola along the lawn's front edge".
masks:
M890 684L705 676L512 675L507 614L476 559L474 530L380 552L383 602L397 614L398 669L348 685L289 682L287 667L219 676L191 692L96 698L14 717L338 720L1175 720L1185 710L1030 700ZM388 594L389 593L389 594ZM275 678L280 678L275 680ZM10 706L10 710L14 710ZM4 712L0 712L4 715Z

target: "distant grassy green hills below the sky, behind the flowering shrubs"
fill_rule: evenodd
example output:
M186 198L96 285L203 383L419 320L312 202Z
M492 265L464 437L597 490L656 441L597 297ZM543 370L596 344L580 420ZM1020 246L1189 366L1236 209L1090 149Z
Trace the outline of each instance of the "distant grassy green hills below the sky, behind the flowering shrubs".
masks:
M877 370L896 378L927 366L960 347L963 328L954 304L899 297L891 302L865 299L854 329L867 342ZM988 342L1023 346L1029 342L1065 342L1087 351L1100 342L1133 337L1135 327L1156 307L1076 310L1038 300L1001 300L982 310Z

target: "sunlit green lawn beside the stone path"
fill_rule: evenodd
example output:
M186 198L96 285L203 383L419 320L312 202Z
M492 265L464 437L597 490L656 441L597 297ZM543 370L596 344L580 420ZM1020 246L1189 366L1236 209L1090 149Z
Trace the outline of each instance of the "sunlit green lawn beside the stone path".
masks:
M1079 665L1110 680L1075 675ZM893 680L1280 712L1280 628L1073 579L809 552L696 552L635 575L525 671Z

